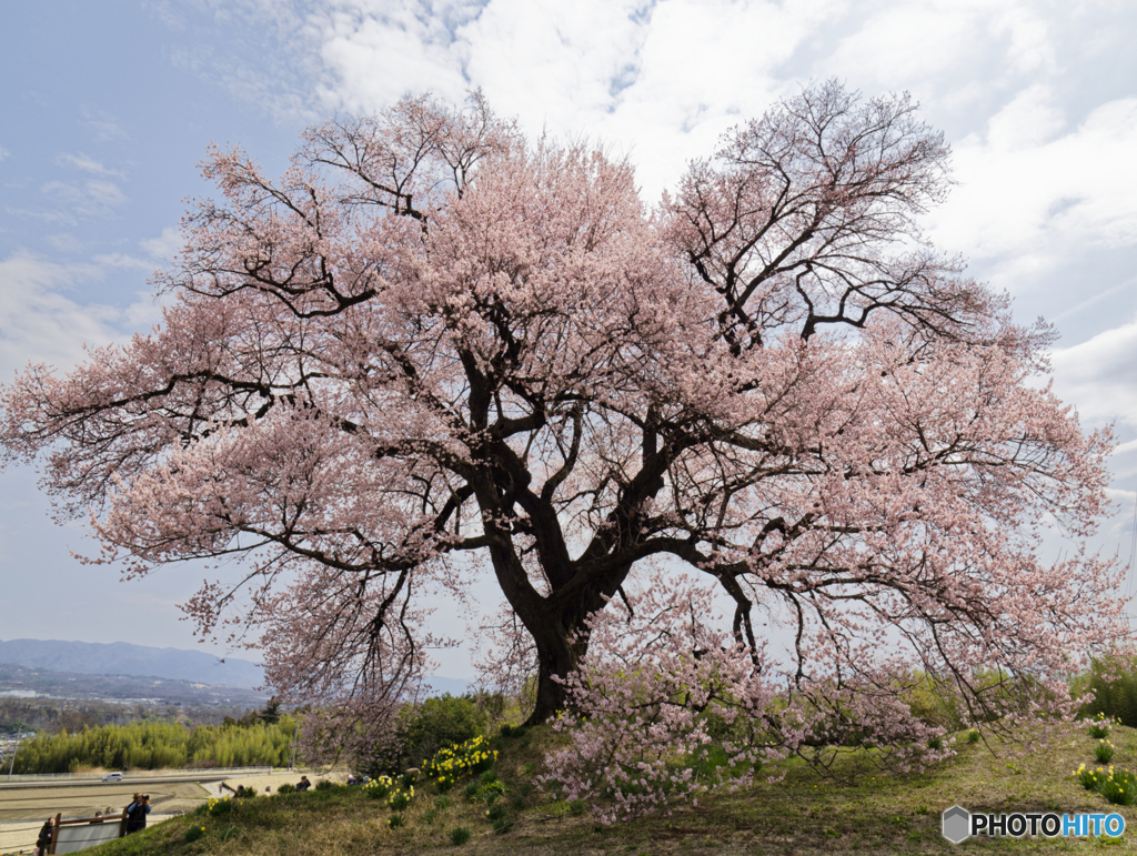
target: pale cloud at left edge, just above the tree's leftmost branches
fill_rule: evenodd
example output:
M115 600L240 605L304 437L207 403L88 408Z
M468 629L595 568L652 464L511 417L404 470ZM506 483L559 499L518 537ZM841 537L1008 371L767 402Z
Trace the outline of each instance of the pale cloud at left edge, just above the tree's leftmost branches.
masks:
M148 298L118 308L80 305L60 293L105 272L105 265L59 264L30 252L0 260L0 382L28 363L69 368L84 358L84 344L108 344L159 321Z

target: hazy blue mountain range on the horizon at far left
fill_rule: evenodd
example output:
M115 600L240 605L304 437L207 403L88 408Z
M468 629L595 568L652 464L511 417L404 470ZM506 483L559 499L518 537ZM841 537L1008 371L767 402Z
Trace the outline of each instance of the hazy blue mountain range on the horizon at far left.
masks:
M0 640L0 663L88 675L130 675L252 689L264 681L260 666L224 660L205 651L148 648L130 642L64 642L56 639Z

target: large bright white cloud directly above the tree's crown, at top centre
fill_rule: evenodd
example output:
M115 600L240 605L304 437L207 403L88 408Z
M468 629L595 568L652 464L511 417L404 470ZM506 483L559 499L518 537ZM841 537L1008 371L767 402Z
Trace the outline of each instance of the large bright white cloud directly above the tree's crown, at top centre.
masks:
M654 199L719 134L790 83L778 68L840 0L337 2L310 18L329 109L375 110L407 93L451 101L481 86L531 134L634 148Z

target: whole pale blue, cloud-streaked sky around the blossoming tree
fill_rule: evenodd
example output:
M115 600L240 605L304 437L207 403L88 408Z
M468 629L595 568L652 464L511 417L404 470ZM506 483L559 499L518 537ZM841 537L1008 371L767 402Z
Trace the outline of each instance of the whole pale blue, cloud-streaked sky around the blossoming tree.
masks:
M1122 443L1118 514L1098 546L1128 556L1134 32L1123 0L13 3L0 32L0 382L156 323L147 279L177 248L183 200L210 192L197 168L210 141L276 173L319 118L481 86L531 134L628 152L654 201L722 131L836 76L866 94L908 90L944 130L957 186L928 230L1009 291L1021 321L1057 324L1055 390ZM205 571L119 584L72 558L91 543L45 508L34 473L0 473L3 638L193 645L176 604ZM462 676L465 662L448 654L440 673Z

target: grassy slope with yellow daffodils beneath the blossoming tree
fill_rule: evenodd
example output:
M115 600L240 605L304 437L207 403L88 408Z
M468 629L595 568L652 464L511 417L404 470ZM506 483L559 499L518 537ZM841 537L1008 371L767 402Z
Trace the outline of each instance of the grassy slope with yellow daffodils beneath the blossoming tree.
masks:
M961 736L962 738L962 736ZM224 814L202 807L144 833L105 846L98 856L158 854L946 854L1078 853L1132 847L1137 809L1110 805L1084 789L1072 772L1094 766L1094 747L1084 728L1051 736L1049 745L1014 754L999 745L993 755L984 743L960 740L958 755L922 775L871 774L855 786L819 779L798 763L782 765L781 782L700 800L672 816L600 826L581 806L550 801L532 779L542 747L555 736L534 730L520 739L496 739L496 774L505 793L498 798L512 828L495 832L483 798L468 798L465 782L447 793L420 782L404 824L391 828L388 799L359 788L259 796L234 800ZM1114 728L1118 770L1137 770L1137 731ZM771 770L771 772L773 772ZM476 786L475 786L476 787ZM972 812L1110 813L1126 818L1121 839L1043 838L971 839L952 845L940 836L940 812L962 805ZM575 811L574 811L575 809ZM217 809L214 809L215 812ZM506 825L506 824L499 824ZM468 830L456 846L451 834ZM196 839L196 840L192 840Z

